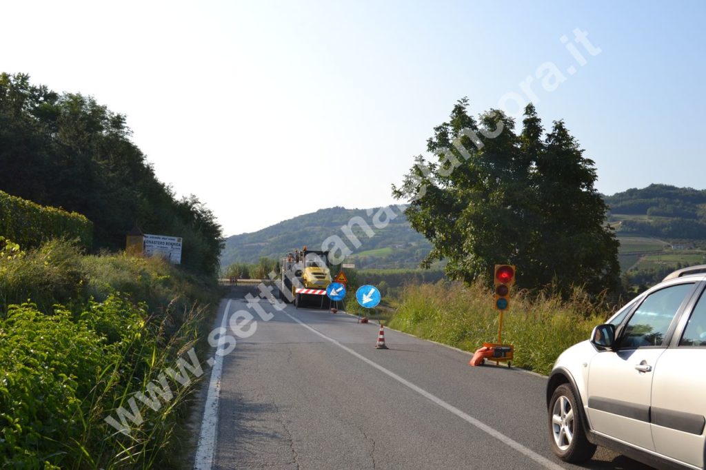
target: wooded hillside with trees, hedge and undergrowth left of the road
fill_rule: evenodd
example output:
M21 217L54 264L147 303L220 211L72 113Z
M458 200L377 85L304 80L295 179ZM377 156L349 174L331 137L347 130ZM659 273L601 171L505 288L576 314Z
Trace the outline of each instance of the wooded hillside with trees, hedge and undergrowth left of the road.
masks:
M170 370L208 347L221 229L130 135L92 97L0 74L3 468L179 468L189 452L198 380ZM182 264L126 255L136 225L181 236Z

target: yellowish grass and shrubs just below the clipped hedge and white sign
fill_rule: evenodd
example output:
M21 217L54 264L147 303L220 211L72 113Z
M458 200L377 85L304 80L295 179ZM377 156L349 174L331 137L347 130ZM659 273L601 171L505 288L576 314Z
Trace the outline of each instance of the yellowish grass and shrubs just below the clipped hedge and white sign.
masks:
M45 313L53 311L54 303L81 308L90 299L104 301L117 291L144 301L153 313L164 311L175 298L182 308L192 301L215 301L210 279L159 257L83 255L75 244L62 240L14 253L0 260L0 313L28 299Z

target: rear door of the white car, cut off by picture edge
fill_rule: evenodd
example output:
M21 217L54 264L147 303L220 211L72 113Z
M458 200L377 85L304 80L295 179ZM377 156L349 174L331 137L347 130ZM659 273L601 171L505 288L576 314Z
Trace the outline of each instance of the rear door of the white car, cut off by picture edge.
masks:
M703 288L702 288L703 289ZM688 306L689 307L689 306ZM706 425L706 294L683 315L652 379L654 450L681 462L704 465Z

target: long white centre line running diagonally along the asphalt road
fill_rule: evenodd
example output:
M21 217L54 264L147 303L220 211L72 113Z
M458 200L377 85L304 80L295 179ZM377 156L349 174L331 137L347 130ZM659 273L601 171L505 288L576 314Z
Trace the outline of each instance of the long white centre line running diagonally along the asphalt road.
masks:
M457 409L455 406L448 404L447 402L444 402L443 399L427 392L426 390L424 390L421 387L418 387L417 385L414 385L412 382L409 382L409 380L406 380L406 379L400 377L400 375L397 375L392 370L388 370L388 369L384 368L380 364L378 364L374 361L371 361L369 358L366 358L365 356L358 354L353 349L350 349L349 347L344 346L340 342L337 342L335 339L324 335L322 332L314 330L312 327L310 327L309 325L306 325L306 323L299 320L299 318L293 317L292 315L289 315L289 313L287 313L287 312L282 312L282 313L287 315L289 318L292 318L292 320L299 323L299 325L305 327L307 330L310 330L311 332L315 333L316 335L319 335L323 339L326 339L326 340L332 342L337 347L340 347L341 349L343 349L347 353L352 354L353 356L356 356L361 361L380 370L385 375L389 375L391 378L397 380L397 382L400 382L402 385L405 385L406 387L409 387L410 389L414 390L414 392L419 393L422 397L426 397L427 399L430 399L432 402L438 404L438 406L441 406L443 409L450 411L451 413L455 414L456 416L458 416L462 420L466 421L467 423L470 423L473 426L475 426L476 428L479 428L484 433L487 433L487 434L493 436L493 438L496 438L497 440L503 442L503 444L512 447L513 449L517 450L517 452L520 452L520 454L524 454L525 456L530 457L530 459L532 459L532 460L534 460L534 462L537 462L538 464L544 466L546 469L563 470L563 467L561 467L560 465L555 464L554 462L551 462L551 460L547 459L546 457L543 457L542 455L537 454L537 452L530 450L529 448L520 444L520 442L517 442L516 440L513 440L512 438L508 438L508 436L504 435L500 431L498 431L494 428L491 428L491 426L488 426L486 423L483 423L482 421L477 420L473 416L470 416L469 414L464 413L460 409Z

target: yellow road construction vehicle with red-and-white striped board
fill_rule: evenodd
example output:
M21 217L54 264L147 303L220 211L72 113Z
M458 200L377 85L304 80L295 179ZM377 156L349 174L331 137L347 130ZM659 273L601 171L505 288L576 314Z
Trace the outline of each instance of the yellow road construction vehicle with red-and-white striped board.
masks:
M310 305L329 308L326 287L331 284L328 251L309 250L304 246L282 258L281 277L277 287L280 299L294 306Z

